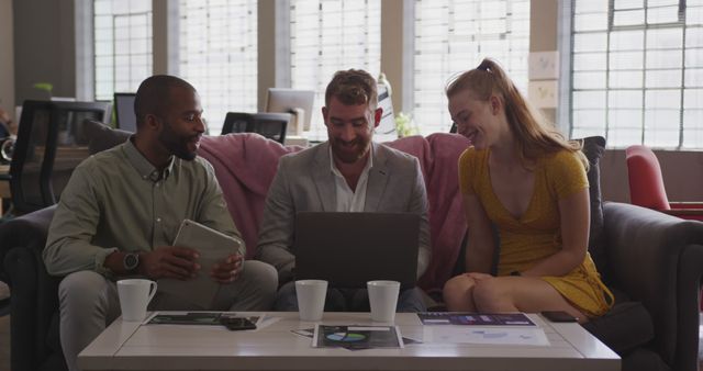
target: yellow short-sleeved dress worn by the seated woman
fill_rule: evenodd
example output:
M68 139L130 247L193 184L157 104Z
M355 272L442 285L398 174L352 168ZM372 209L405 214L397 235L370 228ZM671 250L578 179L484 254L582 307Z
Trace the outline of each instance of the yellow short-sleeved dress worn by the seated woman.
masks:
M527 211L515 218L493 192L489 150L468 148L459 158L459 187L476 194L499 233L498 276L524 271L562 248L558 200L589 187L576 154L559 151L537 161L535 190ZM469 231L469 233L471 233ZM591 256L563 277L542 277L589 317L607 312L613 295L603 284Z

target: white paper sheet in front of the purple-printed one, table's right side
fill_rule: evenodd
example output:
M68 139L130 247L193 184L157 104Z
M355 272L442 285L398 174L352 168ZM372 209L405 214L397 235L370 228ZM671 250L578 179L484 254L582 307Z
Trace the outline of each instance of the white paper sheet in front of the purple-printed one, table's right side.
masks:
M425 342L549 346L542 328L425 326Z

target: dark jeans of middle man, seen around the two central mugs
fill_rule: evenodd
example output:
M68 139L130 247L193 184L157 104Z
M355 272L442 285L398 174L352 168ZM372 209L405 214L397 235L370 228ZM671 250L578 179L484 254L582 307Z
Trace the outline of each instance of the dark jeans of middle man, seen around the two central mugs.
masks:
M276 311L298 312L295 282L283 284L276 295ZM420 289L402 290L398 296L397 312L425 312ZM327 289L325 312L370 312L369 294L366 289Z

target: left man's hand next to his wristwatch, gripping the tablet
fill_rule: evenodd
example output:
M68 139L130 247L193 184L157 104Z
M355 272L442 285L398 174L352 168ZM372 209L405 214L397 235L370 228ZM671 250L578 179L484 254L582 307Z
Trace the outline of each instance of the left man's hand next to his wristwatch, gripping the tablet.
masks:
M140 272L150 279L175 278L188 280L196 277L200 255L187 247L163 246L140 257Z

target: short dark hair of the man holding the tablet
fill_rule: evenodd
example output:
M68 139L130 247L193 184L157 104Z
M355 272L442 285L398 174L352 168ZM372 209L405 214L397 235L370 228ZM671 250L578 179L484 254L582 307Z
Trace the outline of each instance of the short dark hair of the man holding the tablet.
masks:
M169 109L169 93L172 89L185 88L196 91L196 88L183 79L168 75L154 75L142 81L134 98L134 113L136 125L144 124L147 114L155 114L159 117L166 115Z

